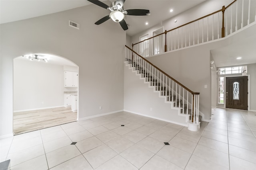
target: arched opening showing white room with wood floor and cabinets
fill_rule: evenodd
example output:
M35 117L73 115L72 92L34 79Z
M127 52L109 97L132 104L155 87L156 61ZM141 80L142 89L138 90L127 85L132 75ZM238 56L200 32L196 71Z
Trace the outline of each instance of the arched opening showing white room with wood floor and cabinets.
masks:
M35 53L16 57L13 134L77 121L78 75L76 64L57 55Z

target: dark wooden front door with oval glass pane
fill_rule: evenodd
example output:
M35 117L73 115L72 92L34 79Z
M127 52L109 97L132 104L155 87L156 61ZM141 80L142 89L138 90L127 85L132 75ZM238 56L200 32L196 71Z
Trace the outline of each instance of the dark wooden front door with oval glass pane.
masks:
M248 76L226 77L226 108L248 109Z

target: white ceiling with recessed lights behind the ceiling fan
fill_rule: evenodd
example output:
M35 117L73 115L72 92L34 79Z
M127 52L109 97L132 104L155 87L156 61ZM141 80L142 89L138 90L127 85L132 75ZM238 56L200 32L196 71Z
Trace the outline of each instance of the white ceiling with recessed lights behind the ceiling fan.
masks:
M104 1L104 3L110 5L111 1ZM124 9L147 9L151 13L150 16L125 16L125 21L129 25L126 33L130 36L135 35L203 1L205 0L126 0ZM0 23L24 20L86 5L95 5L87 0L0 0L0 3ZM104 10L100 6L98 8ZM171 13L170 9L174 11ZM149 24L145 25L146 22Z

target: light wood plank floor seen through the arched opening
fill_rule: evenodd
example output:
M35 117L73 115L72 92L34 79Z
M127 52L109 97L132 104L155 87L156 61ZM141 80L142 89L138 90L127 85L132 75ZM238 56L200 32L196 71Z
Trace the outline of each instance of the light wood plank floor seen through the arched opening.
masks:
M17 135L70 123L76 121L76 119L77 112L71 111L71 107L16 112L13 113L13 133Z

